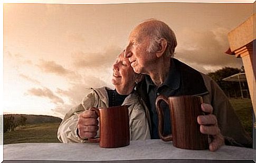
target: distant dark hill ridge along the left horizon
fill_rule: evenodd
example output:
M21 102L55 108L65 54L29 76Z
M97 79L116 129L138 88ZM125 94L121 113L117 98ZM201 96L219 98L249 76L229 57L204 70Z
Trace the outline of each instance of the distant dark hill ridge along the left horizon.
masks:
M17 121L21 116L26 117L25 124L42 124L42 123L60 123L61 118L46 115L26 115L26 114L5 114L4 117L14 116L14 120Z

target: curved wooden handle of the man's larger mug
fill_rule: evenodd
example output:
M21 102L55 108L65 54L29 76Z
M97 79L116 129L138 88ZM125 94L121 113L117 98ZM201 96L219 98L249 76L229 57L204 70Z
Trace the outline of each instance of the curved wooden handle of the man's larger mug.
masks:
M163 114L163 109L160 106L160 101L162 101L162 100L164 100L165 103L167 103L169 106L169 100L167 99L167 97L165 97L163 95L159 95L156 98L156 110L157 110L157 114L158 114L158 135L159 135L160 139L162 139L163 141L172 141L173 140L172 134L164 136L164 114Z

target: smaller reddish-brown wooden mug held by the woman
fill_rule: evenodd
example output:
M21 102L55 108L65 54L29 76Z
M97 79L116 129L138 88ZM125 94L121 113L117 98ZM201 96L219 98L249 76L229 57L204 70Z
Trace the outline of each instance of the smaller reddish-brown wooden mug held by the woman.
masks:
M100 137L89 138L90 142L99 142L103 148L117 148L130 144L128 107L91 108L100 119Z

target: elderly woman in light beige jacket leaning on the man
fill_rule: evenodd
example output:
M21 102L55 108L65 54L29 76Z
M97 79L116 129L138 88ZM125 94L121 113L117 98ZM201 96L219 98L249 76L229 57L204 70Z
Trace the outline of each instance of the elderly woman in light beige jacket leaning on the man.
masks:
M130 139L150 139L149 126L144 107L141 105L135 86L143 78L136 74L129 60L121 53L113 64L112 84L115 90L107 87L92 89L80 105L72 108L63 118L58 129L61 142L86 142L98 135L98 116L91 107L111 107L130 105Z

